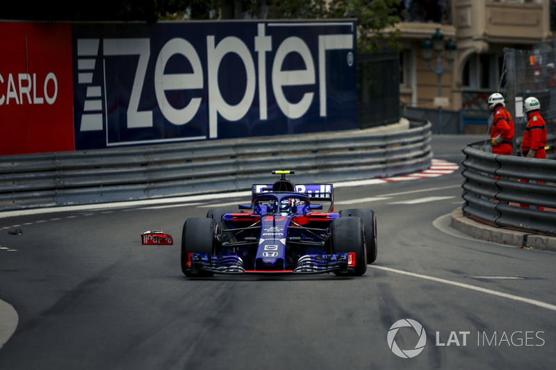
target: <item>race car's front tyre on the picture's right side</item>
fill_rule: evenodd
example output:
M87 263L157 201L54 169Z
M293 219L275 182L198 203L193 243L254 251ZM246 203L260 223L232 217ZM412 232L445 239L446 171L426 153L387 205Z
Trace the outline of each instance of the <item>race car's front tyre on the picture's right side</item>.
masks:
M367 271L364 233L365 225L359 217L340 217L330 226L333 253L355 252L355 269L348 275L361 276ZM336 275L344 274L338 272Z

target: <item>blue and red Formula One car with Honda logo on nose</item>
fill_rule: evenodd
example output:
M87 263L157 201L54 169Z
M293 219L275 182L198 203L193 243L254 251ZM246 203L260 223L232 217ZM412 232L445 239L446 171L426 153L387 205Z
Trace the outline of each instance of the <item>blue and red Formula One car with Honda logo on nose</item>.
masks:
M377 258L375 212L335 213L332 184L294 185L286 178L293 173L272 171L281 175L274 184L254 184L251 204L238 205L241 212L215 208L187 219L183 274L365 274ZM325 212L323 203L329 203Z

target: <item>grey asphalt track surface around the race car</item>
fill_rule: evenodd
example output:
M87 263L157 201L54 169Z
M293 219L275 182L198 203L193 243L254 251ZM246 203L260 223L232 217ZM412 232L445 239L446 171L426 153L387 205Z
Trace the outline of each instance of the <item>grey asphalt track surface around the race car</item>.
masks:
M473 141L434 136L434 158L461 163ZM359 278L185 278L183 221L245 194L4 217L0 313L17 329L0 369L555 369L556 253L451 228L462 180L337 187L336 210L377 212ZM174 245L143 246L145 230Z

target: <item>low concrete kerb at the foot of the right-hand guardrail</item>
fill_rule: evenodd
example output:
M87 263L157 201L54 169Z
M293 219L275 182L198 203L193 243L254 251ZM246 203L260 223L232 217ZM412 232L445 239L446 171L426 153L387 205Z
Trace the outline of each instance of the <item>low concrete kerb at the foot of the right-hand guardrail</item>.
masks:
M482 224L466 217L461 207L456 208L452 212L451 218L451 225L453 228L460 233L475 237L476 239L514 245L521 248L542 249L556 252L556 237L525 233L523 231L508 230Z

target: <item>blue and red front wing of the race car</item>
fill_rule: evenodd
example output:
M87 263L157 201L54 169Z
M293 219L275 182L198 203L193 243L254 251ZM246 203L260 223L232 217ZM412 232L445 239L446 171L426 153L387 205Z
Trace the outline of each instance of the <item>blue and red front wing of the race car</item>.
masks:
M325 255L303 255L297 260L293 270L247 270L243 260L237 255L208 255L190 253L188 268L192 272L211 271L215 274L268 274L268 273L295 273L295 274L322 274L325 272L348 272L355 267L355 253L336 253Z

